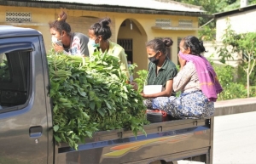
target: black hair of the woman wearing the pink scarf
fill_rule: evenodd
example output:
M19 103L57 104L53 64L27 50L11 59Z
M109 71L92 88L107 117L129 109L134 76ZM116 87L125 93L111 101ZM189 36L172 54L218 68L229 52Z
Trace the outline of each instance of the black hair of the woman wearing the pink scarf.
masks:
M203 42L195 36L184 37L182 42L184 49L190 48L190 54L200 55L201 53L206 52Z

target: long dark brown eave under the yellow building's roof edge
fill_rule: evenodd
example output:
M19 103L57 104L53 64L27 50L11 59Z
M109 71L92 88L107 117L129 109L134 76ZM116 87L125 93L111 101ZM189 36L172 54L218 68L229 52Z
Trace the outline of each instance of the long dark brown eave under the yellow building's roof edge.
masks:
M0 5L15 6L15 7L31 7L31 8L68 8L75 10L89 10L89 11L102 11L102 12L114 12L114 13L129 13L129 14L169 14L169 15L183 15L183 16L195 16L195 17L209 17L212 18L212 14L205 14L204 12L186 12L186 11L170 11L148 8L132 8L132 7L120 7L112 5L93 5L93 4L81 4L81 3L61 3L61 2L42 2L42 1L0 1Z

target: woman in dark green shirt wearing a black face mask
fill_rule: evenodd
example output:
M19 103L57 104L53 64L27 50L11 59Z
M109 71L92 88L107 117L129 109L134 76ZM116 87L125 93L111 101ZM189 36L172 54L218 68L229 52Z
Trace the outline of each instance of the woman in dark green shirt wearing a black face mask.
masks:
M152 101L157 97L175 96L172 90L174 76L177 75L176 65L167 57L167 47L172 46L172 39L153 39L146 44L148 53L148 79L147 85L161 85L162 91L159 93L145 94L142 93L144 105L148 110L153 110Z

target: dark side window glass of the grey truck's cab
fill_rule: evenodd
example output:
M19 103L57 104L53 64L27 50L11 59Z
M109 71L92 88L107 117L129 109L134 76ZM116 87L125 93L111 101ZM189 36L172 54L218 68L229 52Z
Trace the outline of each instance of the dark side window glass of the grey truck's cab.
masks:
M26 106L31 88L30 59L31 52L24 50L0 54L0 113Z

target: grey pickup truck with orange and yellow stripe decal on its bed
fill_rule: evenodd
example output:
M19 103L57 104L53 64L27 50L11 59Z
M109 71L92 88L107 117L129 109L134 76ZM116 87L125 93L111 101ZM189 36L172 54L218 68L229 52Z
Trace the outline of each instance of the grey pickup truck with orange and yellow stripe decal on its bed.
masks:
M44 38L39 31L0 25L0 164L212 163L213 117L170 120L99 131L78 150L53 137Z

